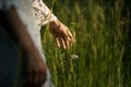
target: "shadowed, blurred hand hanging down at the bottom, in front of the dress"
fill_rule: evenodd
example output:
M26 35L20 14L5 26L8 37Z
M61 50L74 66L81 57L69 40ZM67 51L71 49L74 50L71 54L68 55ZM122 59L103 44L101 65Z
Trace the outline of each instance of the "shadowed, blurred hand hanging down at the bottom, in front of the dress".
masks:
M47 66L38 52L27 51L27 67L24 72L24 87L40 87L47 79Z

